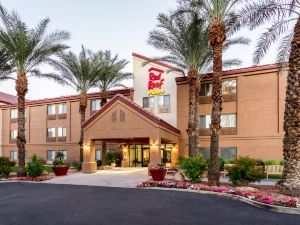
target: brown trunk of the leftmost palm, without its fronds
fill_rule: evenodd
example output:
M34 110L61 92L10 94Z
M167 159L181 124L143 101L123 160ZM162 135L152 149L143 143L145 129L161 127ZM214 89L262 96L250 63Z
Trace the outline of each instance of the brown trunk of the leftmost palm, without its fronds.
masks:
M26 155L26 136L25 136L25 96L28 91L28 80L25 73L20 73L16 80L16 91L18 94L18 176L26 176L25 155Z

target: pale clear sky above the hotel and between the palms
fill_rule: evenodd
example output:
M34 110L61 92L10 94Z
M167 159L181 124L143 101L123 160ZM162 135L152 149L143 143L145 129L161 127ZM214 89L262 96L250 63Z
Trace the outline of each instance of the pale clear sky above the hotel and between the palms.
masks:
M70 50L78 53L81 44L96 51L110 49L120 58L130 63L126 71L132 72L132 52L146 56L162 55L163 52L147 45L149 31L155 28L156 17L160 12L168 12L176 7L176 0L0 0L9 10L15 9L30 26L35 26L42 18L51 19L48 31L64 29L71 33L68 41ZM232 48L225 54L239 57L243 66L250 66L253 45L261 30L244 35L253 40L247 47ZM271 52L263 64L273 63ZM74 94L72 89L61 87L52 81L34 79L29 83L29 99L40 99ZM128 83L132 86L132 82ZM13 82L0 83L0 91L15 94Z

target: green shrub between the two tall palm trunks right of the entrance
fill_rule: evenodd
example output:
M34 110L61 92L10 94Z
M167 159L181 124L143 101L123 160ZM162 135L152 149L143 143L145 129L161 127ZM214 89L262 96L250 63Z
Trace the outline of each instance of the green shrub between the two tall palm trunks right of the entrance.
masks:
M199 156L184 157L180 159L180 168L192 183L198 183L207 169L207 162Z

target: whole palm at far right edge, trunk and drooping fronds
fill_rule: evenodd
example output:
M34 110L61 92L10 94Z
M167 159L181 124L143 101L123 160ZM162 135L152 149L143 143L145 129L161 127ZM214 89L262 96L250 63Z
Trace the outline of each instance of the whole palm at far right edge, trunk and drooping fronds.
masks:
M284 174L282 192L300 196L300 1L260 0L249 3L240 12L241 25L255 29L273 21L261 35L254 52L254 63L259 63L270 46L279 41L277 61L288 61L284 113Z

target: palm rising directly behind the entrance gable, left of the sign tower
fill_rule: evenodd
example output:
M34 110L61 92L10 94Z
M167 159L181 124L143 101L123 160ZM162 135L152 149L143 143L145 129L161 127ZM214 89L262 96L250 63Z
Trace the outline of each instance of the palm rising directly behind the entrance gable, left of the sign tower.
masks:
M110 51L99 51L95 55L96 59L101 62L102 67L98 74L98 81L96 86L100 89L101 107L107 103L108 91L126 86L123 81L131 79L132 73L124 73L122 70L128 64L125 59L118 59L118 55L112 56ZM107 143L102 141L102 165L106 164Z

